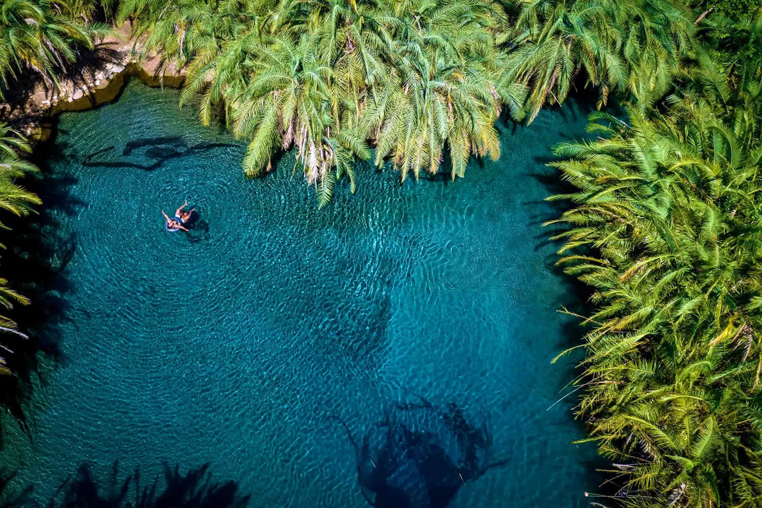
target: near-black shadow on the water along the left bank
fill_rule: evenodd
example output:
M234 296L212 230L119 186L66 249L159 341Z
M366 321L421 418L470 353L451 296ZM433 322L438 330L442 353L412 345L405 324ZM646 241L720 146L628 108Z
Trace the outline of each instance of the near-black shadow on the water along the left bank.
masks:
M38 153L64 157L53 141ZM3 343L14 351L7 356L14 375L0 376L0 404L8 408L27 433L24 406L34 379L45 382L40 377L39 353L60 358L58 325L66 319L66 294L73 290L64 272L74 254L76 238L62 232L53 212L72 215L85 206L71 196L70 187L77 182L75 177L53 174L44 160L35 163L43 176L25 178L23 184L37 193L44 204L38 214L4 219L11 231L0 233L0 241L8 245L8 251L2 253L0 273L11 281L13 289L31 301L30 305L16 305L8 312L29 339L3 337Z

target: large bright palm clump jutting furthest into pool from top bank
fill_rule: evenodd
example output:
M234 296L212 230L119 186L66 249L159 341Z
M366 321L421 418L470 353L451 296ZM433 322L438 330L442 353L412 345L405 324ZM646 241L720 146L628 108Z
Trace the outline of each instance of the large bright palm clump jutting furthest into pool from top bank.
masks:
M249 141L246 174L296 149L308 184L330 199L352 162L391 160L402 178L436 173L450 149L453 179L469 155L498 157L502 107L523 117L524 86L507 78L489 0L124 2L146 51L187 69L183 101L203 94L200 120L223 107ZM328 176L330 175L330 176Z

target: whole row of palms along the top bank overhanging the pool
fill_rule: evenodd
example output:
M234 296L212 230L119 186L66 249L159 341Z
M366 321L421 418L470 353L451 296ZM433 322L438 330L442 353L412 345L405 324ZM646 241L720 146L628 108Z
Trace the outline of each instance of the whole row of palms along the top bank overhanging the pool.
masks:
M531 120L578 78L602 103L612 91L654 101L693 32L687 7L643 0L127 0L128 18L163 70L187 70L202 122L221 110L250 142L247 174L294 147L322 203L343 174L354 189L351 161L370 147L403 180L446 154L463 176L471 155L499 155L502 110Z

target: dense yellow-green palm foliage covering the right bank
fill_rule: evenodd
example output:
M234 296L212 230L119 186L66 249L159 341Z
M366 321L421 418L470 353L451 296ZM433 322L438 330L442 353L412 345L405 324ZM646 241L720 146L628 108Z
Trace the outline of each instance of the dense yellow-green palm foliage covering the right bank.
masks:
M559 263L597 305L579 414L627 506L762 506L760 27L745 54L710 37L722 57L664 114L599 114L605 138L557 149L578 189L555 196L576 205Z

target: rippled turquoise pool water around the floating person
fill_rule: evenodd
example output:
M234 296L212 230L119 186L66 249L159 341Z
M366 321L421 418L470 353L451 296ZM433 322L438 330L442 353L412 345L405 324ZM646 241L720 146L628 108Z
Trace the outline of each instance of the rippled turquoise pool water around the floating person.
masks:
M60 118L63 359L34 439L6 443L17 484L43 503L83 462L211 462L249 506L587 506L594 449L569 444L571 398L546 411L576 297L540 225L548 147L584 114L505 127L501 160L456 184L360 166L317 210L290 155L247 181L177 99L130 83ZM184 200L198 222L166 232Z

